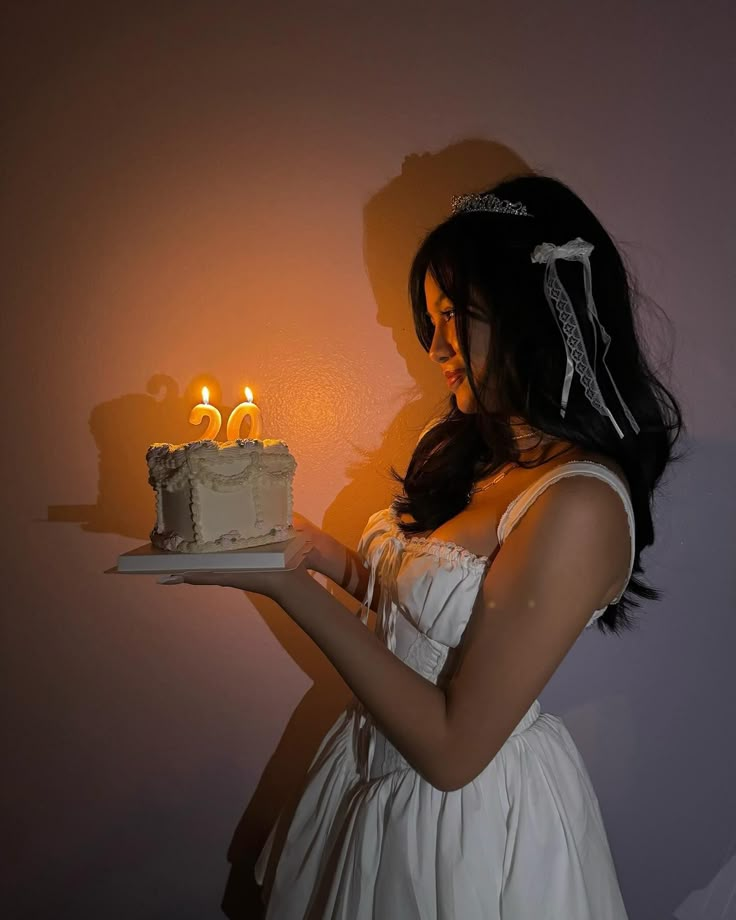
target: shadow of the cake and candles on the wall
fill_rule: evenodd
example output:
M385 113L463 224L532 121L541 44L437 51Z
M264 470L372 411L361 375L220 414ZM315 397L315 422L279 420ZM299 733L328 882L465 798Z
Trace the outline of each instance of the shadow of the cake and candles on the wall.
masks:
M223 416L218 440L230 408L220 401L221 387L211 374L195 377L182 393L166 374L148 381L145 393L129 393L92 409L89 427L98 452L97 501L88 505L49 505L51 523L77 523L82 530L116 533L148 540L155 521L155 496L148 484L146 451L156 441L181 444L201 437L207 427L189 424L192 407L201 401L202 386Z

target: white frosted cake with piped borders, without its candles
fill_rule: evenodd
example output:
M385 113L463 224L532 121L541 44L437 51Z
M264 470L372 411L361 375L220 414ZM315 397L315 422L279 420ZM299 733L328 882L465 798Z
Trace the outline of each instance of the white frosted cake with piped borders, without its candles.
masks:
M148 481L156 492L151 543L178 553L213 553L294 536L296 460L283 441L152 444Z

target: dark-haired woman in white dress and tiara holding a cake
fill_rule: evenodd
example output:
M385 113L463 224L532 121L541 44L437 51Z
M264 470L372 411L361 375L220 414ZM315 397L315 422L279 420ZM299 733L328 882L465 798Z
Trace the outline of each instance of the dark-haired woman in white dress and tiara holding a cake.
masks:
M297 515L296 571L186 577L274 598L354 691L261 853L265 916L623 920L585 765L537 697L584 628L659 597L637 576L679 406L614 243L555 179L456 199L410 293L449 408L357 552Z

